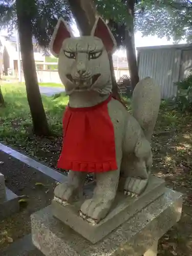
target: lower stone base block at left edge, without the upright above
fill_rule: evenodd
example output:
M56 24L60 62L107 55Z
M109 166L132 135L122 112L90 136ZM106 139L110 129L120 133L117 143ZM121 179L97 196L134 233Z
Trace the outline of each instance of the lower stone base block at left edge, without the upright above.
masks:
M19 211L18 197L10 189L6 188L6 197L0 203L0 220Z

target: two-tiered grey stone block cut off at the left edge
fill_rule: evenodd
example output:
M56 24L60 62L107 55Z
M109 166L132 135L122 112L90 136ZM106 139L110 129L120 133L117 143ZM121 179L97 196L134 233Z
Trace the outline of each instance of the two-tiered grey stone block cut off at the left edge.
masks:
M5 186L4 175L0 173L0 220L18 211L18 197Z

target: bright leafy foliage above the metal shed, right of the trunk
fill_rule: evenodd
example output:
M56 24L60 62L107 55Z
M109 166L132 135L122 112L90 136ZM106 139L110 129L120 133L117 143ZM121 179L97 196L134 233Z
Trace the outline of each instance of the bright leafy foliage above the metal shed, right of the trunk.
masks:
M141 6L142 5L142 6ZM144 0L136 6L136 30L143 36L173 37L175 42L192 41L192 1Z

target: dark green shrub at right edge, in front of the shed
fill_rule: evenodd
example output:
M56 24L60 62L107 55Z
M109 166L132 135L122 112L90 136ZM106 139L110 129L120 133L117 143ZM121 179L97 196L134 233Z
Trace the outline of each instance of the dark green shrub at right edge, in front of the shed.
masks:
M181 111L192 111L192 74L174 84L178 88L177 97L174 99L176 106Z

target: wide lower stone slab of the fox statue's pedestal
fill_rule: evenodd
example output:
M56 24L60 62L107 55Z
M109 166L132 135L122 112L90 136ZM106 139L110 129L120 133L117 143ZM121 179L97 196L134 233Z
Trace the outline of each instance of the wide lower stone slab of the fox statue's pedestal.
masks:
M96 244L53 217L51 206L31 216L32 241L46 256L140 256L180 220L182 195L171 189Z

